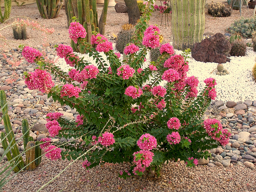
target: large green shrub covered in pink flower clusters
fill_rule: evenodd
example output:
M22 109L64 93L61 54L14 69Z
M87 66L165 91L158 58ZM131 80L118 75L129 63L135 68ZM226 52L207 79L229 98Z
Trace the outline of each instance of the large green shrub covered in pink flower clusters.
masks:
M42 145L49 152L48 158L79 157L86 168L130 162L130 171L120 175L128 177L143 175L151 168L160 173L159 167L169 159L196 165L197 159L209 157L208 150L228 143L230 133L218 121L202 120L216 97L215 79L206 79L205 88L198 93L198 78L187 77L189 51L174 55L170 45L162 47L160 59L149 67L144 65L147 52L158 46L160 30L150 26L140 31L143 22L138 25L136 32L145 34L145 38L134 37L134 45L138 46L136 40L141 42L140 49L127 48L133 53L125 60L120 60L108 38L99 34L91 38L94 46L77 38L78 45L95 61L93 65L87 57L78 59L66 46L56 49L60 57L72 62L68 73L42 57L35 59L39 67L36 73L27 75L28 87L45 89L54 101L79 114L72 120L60 114L47 115L50 135L69 140L61 146L63 151ZM49 86L50 76L45 72L53 74L59 83ZM38 79L40 82L34 84Z

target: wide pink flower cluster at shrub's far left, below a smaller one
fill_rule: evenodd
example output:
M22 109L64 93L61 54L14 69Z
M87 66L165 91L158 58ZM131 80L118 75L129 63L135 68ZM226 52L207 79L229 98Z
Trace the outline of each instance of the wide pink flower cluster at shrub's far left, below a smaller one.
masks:
M29 75L25 77L25 83L30 90L38 89L42 93L49 93L54 86L51 74L40 69L29 72Z

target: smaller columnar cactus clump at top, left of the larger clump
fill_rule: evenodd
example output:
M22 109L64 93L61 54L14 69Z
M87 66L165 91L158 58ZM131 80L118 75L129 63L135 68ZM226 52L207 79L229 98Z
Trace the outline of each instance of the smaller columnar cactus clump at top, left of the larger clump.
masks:
M55 18L63 5L62 0L36 0L42 18Z

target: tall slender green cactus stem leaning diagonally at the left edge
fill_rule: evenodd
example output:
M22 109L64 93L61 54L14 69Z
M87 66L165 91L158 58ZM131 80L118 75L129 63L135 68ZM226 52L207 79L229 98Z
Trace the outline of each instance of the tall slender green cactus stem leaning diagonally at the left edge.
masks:
M14 133L13 133L11 122L10 122L10 117L8 115L6 94L5 94L5 91L3 90L0 91L0 104L3 112L3 120L5 124L6 135L7 135L8 141L10 142L10 148L11 148L13 158L15 159L15 162L17 162L17 167L19 169L23 169L25 166L25 163L23 161L22 156L19 155L18 146L15 143Z

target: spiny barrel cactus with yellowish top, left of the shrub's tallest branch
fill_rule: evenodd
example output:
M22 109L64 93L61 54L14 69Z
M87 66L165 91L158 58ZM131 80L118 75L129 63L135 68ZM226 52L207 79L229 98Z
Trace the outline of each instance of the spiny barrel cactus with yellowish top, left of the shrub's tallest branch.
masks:
M124 24L122 30L118 33L116 39L116 49L123 53L124 47L131 42L133 35L135 34L135 28L132 25Z

